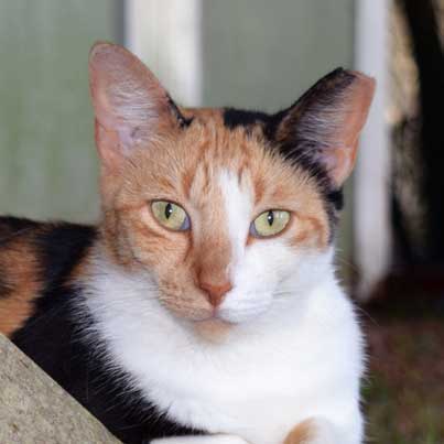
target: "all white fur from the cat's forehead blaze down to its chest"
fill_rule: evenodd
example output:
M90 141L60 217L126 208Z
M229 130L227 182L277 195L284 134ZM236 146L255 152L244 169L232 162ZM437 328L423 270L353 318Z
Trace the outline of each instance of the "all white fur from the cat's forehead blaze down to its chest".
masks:
M234 435L227 443L282 444L310 418L325 419L333 444L361 443L361 335L333 250L297 250L280 237L246 245L248 177L238 183L224 171L219 186L232 247L232 290L219 312L234 323L227 339L196 336L160 304L153 277L124 272L98 252L86 303L110 360L173 421Z

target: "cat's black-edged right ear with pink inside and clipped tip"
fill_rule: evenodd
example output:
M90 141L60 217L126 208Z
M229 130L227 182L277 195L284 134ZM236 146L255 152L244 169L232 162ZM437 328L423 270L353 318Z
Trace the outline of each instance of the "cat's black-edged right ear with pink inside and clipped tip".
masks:
M373 93L375 79L338 68L275 115L275 139L286 155L321 163L333 185L340 187L355 164Z

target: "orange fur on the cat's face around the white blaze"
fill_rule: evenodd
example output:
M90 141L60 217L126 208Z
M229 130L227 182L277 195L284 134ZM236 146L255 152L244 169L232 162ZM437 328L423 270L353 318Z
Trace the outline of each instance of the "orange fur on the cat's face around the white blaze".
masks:
M326 248L329 225L315 180L269 150L260 128L230 130L220 110L181 112L193 116L188 128L165 131L149 147L136 149L119 177L104 171L102 234L122 267L154 272L160 301L173 313L205 321L213 305L203 289L229 285L231 245L218 181L221 171L232 172L250 188L251 220L270 208L292 212L292 223L281 235L290 246ZM150 209L154 199L181 205L192 230L161 227ZM247 245L252 241L263 240L246 238Z

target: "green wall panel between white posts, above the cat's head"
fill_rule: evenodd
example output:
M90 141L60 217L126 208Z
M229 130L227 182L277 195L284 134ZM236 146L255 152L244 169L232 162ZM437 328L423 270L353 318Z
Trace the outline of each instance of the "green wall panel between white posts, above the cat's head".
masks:
M278 110L353 64L354 0L203 0L204 104Z

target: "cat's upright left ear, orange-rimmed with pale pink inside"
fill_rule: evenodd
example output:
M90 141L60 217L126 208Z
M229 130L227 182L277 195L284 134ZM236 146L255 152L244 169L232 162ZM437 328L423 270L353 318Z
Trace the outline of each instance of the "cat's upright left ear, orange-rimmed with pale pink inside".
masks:
M102 163L115 167L137 147L174 124L167 93L126 48L96 43L89 54L89 84L96 116L96 144Z

